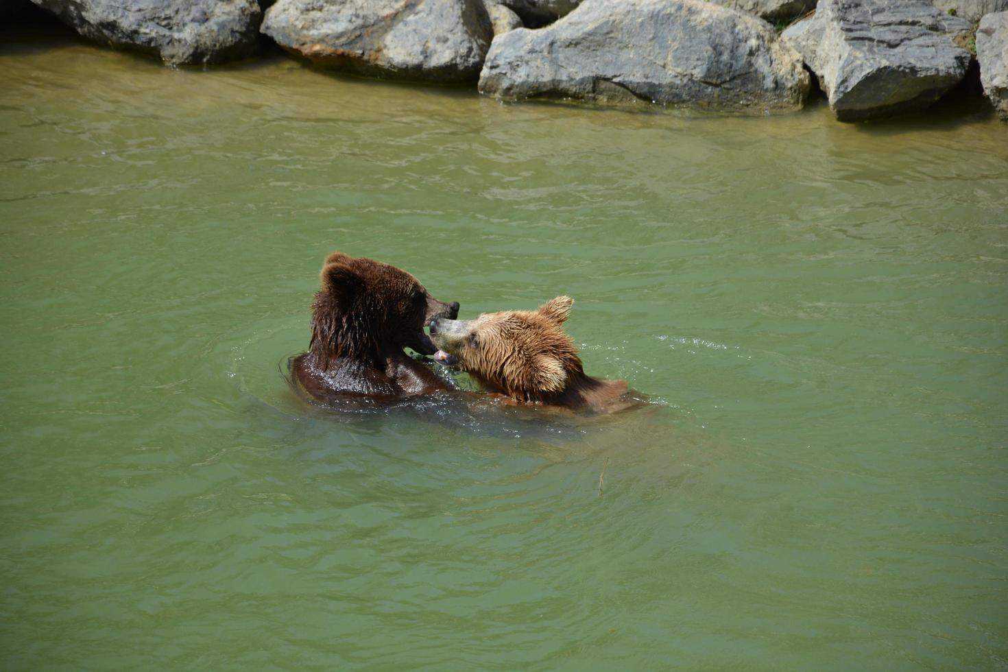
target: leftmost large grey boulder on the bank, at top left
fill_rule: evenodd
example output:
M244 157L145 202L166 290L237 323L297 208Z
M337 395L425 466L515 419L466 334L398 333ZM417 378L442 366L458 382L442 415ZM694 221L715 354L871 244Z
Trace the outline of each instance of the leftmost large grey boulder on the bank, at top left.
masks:
M237 60L259 48L256 0L32 0L79 33L171 65Z

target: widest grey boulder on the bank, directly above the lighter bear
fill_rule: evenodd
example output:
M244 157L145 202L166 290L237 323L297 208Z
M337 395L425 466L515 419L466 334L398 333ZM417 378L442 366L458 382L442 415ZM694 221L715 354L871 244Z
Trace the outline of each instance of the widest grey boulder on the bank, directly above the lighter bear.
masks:
M801 107L808 74L755 16L700 0L585 0L538 30L494 39L480 92L504 99Z

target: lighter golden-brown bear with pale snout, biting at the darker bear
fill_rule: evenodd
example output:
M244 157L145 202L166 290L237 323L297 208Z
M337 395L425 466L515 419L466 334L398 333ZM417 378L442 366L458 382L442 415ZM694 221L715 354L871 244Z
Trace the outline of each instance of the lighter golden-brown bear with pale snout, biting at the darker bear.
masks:
M574 299L557 296L537 310L483 313L476 319L437 317L430 339L434 361L468 373L506 403L612 413L639 405L625 381L585 373L563 331Z

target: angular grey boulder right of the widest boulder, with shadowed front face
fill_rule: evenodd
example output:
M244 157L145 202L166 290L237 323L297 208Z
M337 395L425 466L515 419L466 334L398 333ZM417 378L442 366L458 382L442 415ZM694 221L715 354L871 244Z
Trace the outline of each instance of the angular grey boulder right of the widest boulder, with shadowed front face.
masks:
M840 121L920 112L963 79L969 29L924 0L820 0L781 36L801 52Z

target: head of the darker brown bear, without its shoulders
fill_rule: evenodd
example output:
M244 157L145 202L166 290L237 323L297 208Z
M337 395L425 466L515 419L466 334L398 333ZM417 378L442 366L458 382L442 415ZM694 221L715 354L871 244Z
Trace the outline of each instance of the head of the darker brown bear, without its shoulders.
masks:
M436 348L423 327L459 314L458 302L438 301L406 271L373 259L334 252L320 280L309 350L324 370L338 358L379 364L403 348L433 355Z

